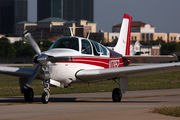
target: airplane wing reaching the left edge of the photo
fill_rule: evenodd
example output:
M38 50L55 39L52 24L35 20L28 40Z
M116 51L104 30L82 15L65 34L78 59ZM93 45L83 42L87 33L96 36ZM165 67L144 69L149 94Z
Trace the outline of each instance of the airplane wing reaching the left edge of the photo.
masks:
M0 73L12 76L30 77L33 72L34 69L0 66Z

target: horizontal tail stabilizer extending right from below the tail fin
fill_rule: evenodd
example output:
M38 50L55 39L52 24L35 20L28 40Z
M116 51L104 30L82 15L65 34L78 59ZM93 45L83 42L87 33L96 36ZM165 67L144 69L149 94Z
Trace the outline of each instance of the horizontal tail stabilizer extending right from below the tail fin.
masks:
M156 61L177 61L177 56L174 55L159 55L159 56L123 56L123 58L127 58L131 62L156 62Z

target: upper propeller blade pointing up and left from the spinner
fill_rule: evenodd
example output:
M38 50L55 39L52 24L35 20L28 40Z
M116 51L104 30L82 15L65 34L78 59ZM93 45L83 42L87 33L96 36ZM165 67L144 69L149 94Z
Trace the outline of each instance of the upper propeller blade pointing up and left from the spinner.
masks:
M31 46L33 47L34 51L40 56L41 55L41 50L39 49L39 46L37 45L37 43L35 42L35 40L31 36L31 34L27 30L25 30L24 31L24 36L26 37L28 42L31 44Z

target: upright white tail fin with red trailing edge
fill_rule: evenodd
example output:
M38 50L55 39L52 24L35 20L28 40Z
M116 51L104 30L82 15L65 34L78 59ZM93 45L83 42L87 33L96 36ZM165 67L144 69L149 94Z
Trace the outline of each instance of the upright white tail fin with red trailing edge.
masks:
M132 16L124 14L119 38L114 47L114 51L122 55L129 55L130 53L131 21Z

